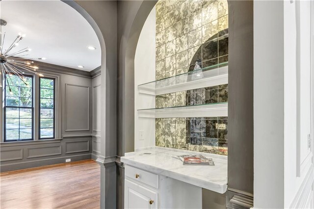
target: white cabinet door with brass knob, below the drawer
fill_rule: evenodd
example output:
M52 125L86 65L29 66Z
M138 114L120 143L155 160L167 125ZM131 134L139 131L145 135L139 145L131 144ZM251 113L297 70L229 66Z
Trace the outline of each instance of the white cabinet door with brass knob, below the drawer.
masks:
M157 209L157 192L126 179L124 207L126 209Z

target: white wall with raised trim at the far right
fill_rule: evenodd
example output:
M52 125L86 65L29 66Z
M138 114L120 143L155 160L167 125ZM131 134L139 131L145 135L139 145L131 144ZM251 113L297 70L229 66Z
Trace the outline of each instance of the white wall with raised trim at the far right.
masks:
M258 209L313 207L313 157L307 140L311 2L300 1L300 111L295 4L254 2L254 208Z

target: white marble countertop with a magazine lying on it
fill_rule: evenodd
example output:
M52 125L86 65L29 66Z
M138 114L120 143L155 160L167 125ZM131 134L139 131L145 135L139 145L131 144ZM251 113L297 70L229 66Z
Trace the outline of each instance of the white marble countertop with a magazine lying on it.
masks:
M174 158L187 153L211 157L215 165L183 165L180 159ZM121 157L125 164L221 194L227 190L227 161L227 157L217 155L160 148L141 149Z

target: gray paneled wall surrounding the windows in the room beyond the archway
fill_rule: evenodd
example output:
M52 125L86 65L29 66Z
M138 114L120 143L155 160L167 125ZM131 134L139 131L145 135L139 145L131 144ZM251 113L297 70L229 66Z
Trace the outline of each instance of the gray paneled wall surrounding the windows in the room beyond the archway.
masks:
M38 62L42 72L58 76L56 112L58 139L24 142L2 142L0 146L0 171L12 171L37 166L90 159L99 147L92 142L93 95L92 76L88 72ZM94 78L95 79L95 78ZM73 108L75 106L75 108ZM99 133L100 134L100 133Z

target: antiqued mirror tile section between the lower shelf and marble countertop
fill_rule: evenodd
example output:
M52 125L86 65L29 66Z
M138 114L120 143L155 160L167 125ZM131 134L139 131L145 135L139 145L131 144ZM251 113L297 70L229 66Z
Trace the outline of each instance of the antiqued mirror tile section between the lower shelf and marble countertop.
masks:
M228 117L156 118L156 146L228 154Z

